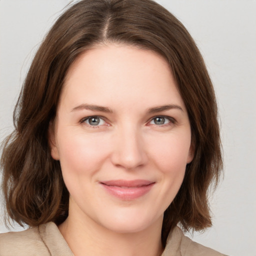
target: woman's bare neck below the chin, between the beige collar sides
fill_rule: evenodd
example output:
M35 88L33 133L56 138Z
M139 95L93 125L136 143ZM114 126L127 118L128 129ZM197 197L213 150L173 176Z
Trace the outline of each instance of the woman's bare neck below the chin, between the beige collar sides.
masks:
M69 212L58 228L75 256L159 256L162 253L161 223L159 219L145 230L115 232L89 217L81 220Z

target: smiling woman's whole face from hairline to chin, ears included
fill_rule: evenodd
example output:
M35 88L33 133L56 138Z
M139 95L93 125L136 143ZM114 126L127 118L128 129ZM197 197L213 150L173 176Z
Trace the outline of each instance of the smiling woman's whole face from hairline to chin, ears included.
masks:
M69 219L117 232L161 224L192 160L184 102L166 60L98 45L71 65L50 128Z

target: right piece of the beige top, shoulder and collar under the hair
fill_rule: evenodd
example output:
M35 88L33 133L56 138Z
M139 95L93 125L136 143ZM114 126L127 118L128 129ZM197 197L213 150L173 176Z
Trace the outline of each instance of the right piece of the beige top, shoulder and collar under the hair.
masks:
M173 252L175 251L175 254ZM224 256L224 254L192 241L179 227L175 227L167 238L162 256Z

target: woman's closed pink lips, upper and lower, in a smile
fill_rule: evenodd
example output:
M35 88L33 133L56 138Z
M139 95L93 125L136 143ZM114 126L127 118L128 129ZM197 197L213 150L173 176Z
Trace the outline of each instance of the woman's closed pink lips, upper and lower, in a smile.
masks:
M132 200L150 191L155 182L145 179L134 180L105 180L99 182L111 195L122 199Z

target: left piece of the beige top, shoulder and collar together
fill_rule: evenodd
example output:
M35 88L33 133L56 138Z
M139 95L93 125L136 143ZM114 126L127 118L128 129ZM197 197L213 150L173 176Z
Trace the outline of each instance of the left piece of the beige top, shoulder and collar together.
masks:
M53 222L0 234L0 256L73 256Z

